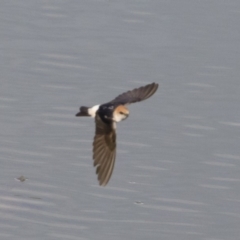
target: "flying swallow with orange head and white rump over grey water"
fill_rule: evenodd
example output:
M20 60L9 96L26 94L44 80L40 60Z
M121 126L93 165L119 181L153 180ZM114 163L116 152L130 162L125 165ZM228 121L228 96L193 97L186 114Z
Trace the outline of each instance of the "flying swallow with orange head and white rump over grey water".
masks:
M129 116L127 105L151 97L158 89L157 83L124 92L112 101L93 107L80 107L77 117L95 118L95 137L93 140L93 160L101 186L111 178L116 159L116 123Z

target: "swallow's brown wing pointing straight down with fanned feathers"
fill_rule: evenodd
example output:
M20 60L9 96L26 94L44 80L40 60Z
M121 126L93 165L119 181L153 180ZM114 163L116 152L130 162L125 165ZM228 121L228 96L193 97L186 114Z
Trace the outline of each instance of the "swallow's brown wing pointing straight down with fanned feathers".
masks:
M96 115L93 160L99 184L105 186L113 172L116 158L116 131L113 123L106 124Z

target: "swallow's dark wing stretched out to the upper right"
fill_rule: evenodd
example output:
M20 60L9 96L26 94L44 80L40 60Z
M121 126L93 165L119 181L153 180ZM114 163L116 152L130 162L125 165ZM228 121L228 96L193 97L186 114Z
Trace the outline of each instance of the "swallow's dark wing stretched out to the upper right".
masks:
M113 99L110 103L119 103L119 104L130 104L135 102L143 101L151 97L158 89L157 83L151 83L146 86L135 88L131 91L122 93Z

